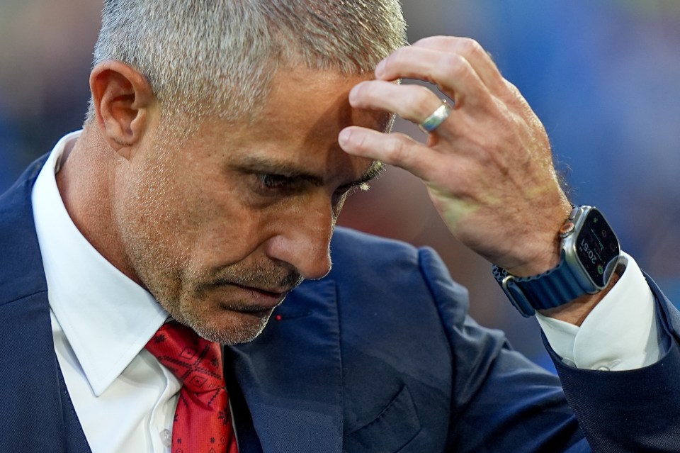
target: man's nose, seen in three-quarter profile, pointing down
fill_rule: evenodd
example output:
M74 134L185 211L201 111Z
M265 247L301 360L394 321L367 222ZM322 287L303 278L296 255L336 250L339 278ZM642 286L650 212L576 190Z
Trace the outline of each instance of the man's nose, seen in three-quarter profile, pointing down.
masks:
M328 201L292 209L278 219L276 235L267 242L267 254L287 262L304 279L320 279L331 270L330 242L335 217Z

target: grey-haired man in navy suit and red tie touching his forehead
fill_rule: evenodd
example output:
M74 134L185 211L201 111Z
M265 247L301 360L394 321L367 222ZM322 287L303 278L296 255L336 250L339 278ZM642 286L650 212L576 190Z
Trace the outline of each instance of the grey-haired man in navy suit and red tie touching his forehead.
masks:
M677 449L677 313L600 228L602 284L555 286L562 245L604 218L572 211L477 43L403 30L390 0L106 1L84 129L0 203L4 450ZM394 113L428 142L389 133ZM570 406L467 318L433 252L334 234L379 162L424 179L523 314L543 309ZM178 356L154 350L176 331ZM224 385L194 399L222 379L216 343L228 403ZM185 381L178 362L212 368Z

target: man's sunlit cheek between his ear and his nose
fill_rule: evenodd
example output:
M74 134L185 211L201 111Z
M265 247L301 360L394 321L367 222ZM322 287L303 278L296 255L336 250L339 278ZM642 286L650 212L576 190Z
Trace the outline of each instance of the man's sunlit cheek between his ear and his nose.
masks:
M279 223L275 210L250 206L248 191L217 174L215 164L173 162L147 167L128 211L159 264L202 274L244 259L263 260L257 254ZM208 171L190 171L199 168Z

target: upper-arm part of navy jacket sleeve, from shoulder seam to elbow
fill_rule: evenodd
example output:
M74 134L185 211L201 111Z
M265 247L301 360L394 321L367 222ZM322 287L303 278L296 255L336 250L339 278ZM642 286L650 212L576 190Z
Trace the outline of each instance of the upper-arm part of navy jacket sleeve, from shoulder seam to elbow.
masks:
M557 376L467 315L467 295L436 253L419 250L453 357L447 451L589 452Z

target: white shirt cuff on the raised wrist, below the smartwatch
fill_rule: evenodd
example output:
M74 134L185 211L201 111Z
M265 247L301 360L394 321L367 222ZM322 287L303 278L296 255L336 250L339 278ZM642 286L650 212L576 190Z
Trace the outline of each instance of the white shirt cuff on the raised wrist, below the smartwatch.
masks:
M623 371L662 356L652 290L635 260L621 254L625 271L581 327L536 313L550 347L580 369Z

